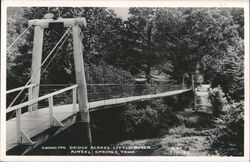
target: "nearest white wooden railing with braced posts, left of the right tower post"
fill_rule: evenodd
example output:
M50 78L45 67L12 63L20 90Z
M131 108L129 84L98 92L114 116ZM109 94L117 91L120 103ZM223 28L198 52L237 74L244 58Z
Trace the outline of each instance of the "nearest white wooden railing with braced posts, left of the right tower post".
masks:
M51 126L63 126L63 124L57 120L57 118L54 116L53 113L53 106L54 106L54 102L53 102L53 97L56 95L60 95L64 92L70 91L72 90L72 108L73 108L73 113L76 113L76 103L77 103L77 85L73 85L58 91L55 91L53 93L47 94L45 96L41 96L37 99L33 99L24 103L21 103L19 105L15 105L12 106L10 108L8 108L6 110L6 113L10 113L15 111L16 113L16 132L17 132L17 143L23 143L23 139L25 139L26 141L28 141L28 143L32 144L33 142L31 141L31 139L25 134L24 131L22 131L22 119L21 119L21 115L22 115L22 109L27 107L27 106L32 106L34 104L37 104L39 101L42 100L48 100L49 103L49 119L50 119L50 125Z

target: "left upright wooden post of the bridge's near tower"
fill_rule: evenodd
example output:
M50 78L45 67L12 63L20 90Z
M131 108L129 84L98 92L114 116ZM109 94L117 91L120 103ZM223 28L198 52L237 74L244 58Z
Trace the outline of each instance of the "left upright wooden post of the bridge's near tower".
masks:
M43 33L44 29L40 26L35 26L34 30L34 43L32 53L32 65L31 65L31 84L37 86L32 89L32 99L36 99L39 96L39 84L42 62L42 49L43 49ZM38 104L34 104L32 109L37 110Z

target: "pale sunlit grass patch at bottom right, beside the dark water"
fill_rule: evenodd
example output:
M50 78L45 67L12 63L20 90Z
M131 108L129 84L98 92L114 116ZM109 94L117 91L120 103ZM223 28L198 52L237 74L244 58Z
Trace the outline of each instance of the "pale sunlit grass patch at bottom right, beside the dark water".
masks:
M125 146L151 146L147 155L152 156L209 156L209 130L195 130L178 126L169 130L169 133L160 138L128 140L119 143ZM136 155L146 154L145 151Z

